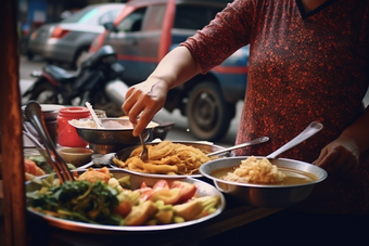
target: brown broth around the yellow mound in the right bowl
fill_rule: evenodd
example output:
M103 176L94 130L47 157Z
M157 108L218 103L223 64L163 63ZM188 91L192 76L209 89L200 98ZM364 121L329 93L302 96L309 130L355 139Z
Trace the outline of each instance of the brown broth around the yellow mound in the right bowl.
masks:
M218 179L221 179L221 177L226 176L228 172L232 172L233 170L234 170L234 168L222 168L222 169L213 171L211 173L211 176L218 178ZM296 169L279 167L278 170L282 171L287 176L287 178L282 182L272 183L270 185L276 185L276 184L277 185L305 184L305 183L310 183L310 182L318 180L318 178L316 176L314 176L313 173L296 170ZM253 183L253 184L255 184L255 183Z

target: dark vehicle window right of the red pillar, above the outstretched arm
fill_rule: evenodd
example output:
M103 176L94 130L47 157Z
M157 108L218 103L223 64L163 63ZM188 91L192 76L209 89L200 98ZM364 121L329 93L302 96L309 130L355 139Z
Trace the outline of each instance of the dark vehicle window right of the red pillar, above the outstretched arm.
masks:
M200 5L177 5L174 28L202 29L221 9Z

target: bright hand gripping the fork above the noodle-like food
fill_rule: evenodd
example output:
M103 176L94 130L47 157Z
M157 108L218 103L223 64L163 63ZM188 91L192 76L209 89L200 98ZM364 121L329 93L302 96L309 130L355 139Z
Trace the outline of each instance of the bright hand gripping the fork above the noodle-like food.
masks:
M157 79L148 79L128 89L122 109L132 124L137 124L133 135L139 135L164 106L167 92L167 85Z

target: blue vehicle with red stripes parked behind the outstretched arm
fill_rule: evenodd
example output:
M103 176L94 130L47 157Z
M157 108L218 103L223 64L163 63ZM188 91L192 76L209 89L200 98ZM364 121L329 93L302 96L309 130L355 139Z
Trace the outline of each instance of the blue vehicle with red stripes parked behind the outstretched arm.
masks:
M94 52L110 44L125 67L127 86L141 82L163 56L207 25L229 0L131 0L106 31L91 44ZM249 47L236 51L206 75L198 75L170 90L165 108L179 108L189 120L194 137L216 141L224 138L236 115L236 104L244 99L247 81Z

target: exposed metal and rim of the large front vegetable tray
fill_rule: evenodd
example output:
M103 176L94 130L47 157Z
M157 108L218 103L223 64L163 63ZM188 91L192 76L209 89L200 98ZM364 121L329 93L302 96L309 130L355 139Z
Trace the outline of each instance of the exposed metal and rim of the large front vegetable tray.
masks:
M79 170L79 173L85 172L86 170ZM157 179L129 174L125 171L117 170L117 169L110 169L111 173L113 173L116 178L122 178L126 176L130 176L130 183L132 190L140 187L141 183L144 181L148 185L153 185ZM41 177L40 179L46 178ZM40 212L36 212L30 208L27 208L27 212L35 217L36 219L43 220L49 225L63 229L73 232L82 232L82 233L94 233L94 234L124 234L124 233L132 233L132 232L153 232L153 231L163 231L163 230L170 230L170 229L178 229L183 226L190 226L203 221L209 220L216 216L218 216L226 207L226 200L221 192L219 192L215 186L203 182L196 179L180 179L180 181L193 183L198 187L198 195L199 196L207 196L207 195L218 195L220 197L220 204L217 210L214 213L211 213L207 217L203 217L198 220L186 221L182 223L173 223L173 224L164 224L164 225L139 225L139 226L118 226L118 225L102 225L102 224L92 224L92 223L85 223L85 222L76 222L72 220L60 219L51 216L47 216ZM39 185L28 181L26 183L26 192L33 192L39 189Z

